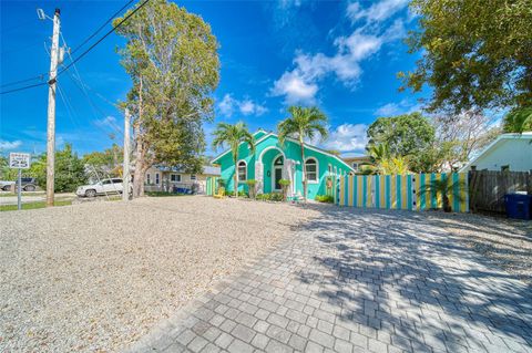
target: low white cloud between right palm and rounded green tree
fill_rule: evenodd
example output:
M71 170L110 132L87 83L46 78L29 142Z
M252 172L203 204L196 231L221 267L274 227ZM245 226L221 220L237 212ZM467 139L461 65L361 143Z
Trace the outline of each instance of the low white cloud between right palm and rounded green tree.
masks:
M336 127L330 134L324 147L339 152L364 150L368 143L366 124L342 124Z

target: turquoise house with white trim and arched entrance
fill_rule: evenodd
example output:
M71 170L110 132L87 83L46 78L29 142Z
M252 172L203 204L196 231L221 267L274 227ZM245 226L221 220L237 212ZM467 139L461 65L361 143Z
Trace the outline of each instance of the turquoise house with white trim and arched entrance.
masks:
M282 191L280 179L290 180L289 196L303 196L303 168L307 177L307 198L314 199L316 195L332 195L331 179L334 175L345 175L354 169L326 150L305 144L305 160L301 160L299 142L286 138L284 145L274 133L257 131L255 138L255 153L247 144L242 143L238 149L236 173L238 190L247 191L248 179L257 180L257 194ZM212 162L221 166L221 177L225 180L228 191L235 189L235 164L231 149L225 150ZM328 178L330 177L330 178Z

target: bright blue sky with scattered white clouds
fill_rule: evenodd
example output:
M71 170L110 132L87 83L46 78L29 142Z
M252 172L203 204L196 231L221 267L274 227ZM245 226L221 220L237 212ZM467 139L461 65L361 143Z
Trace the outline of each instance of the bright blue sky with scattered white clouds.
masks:
M49 70L52 22L39 21L37 8L49 15L61 9L63 39L75 48L124 3L2 1L1 83ZM412 70L418 59L407 53L402 42L416 25L407 0L178 4L207 21L221 44L216 118L205 125L207 141L218 122L243 120L253 131L275 129L288 105L317 105L330 124L329 139L320 146L357 155L364 152L365 129L376 117L419 107L420 96L399 93L396 79L397 72ZM115 52L121 45L123 40L113 33L76 64L78 72L71 69L70 75L59 77L59 147L72 143L84 154L111 146L112 137L122 143L123 117L113 103L124 100L131 81ZM0 95L0 100L2 152L43 152L48 87ZM211 148L206 153L214 154Z

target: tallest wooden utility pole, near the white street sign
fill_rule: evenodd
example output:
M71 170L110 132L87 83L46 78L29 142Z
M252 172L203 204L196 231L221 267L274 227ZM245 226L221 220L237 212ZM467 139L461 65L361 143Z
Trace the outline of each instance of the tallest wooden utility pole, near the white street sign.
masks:
M53 206L55 177L55 83L58 81L59 31L61 11L55 9L53 15L52 50L50 52L50 87L48 90L48 137L47 137L47 207Z

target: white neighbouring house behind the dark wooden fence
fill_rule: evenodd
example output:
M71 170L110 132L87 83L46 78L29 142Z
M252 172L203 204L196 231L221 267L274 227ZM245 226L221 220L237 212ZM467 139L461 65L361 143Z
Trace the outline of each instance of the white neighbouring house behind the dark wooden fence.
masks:
M532 132L500 135L460 172L472 169L532 170Z

